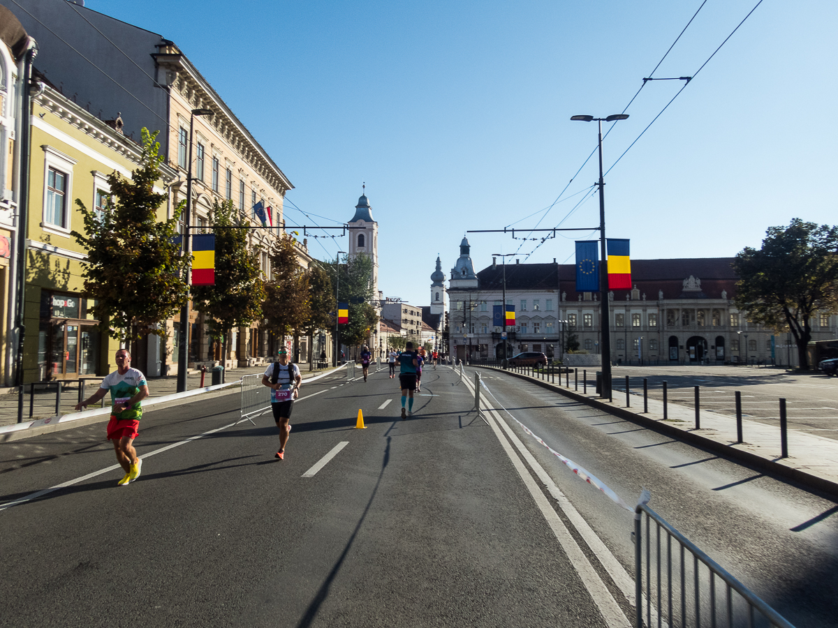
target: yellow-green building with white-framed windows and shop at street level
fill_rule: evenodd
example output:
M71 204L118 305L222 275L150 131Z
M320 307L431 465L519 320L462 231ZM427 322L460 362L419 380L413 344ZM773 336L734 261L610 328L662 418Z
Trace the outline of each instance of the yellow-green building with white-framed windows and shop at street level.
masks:
M111 360L118 344L96 329L93 304L80 296L86 255L70 235L84 232L75 200L104 207L107 176L131 178L141 147L122 135L119 118L101 121L47 86L34 98L31 129L23 381L105 375L116 367ZM162 172L158 193L175 176L167 166ZM169 212L164 205L158 217ZM163 344L153 336L144 347L154 358ZM137 361L137 368L153 362Z

